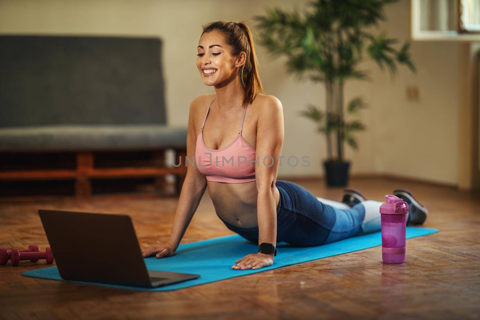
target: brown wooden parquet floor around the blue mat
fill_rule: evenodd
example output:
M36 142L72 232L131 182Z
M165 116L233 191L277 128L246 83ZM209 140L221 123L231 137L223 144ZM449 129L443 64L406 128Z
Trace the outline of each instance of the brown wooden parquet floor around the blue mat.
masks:
M323 181L291 181L318 197L339 200L342 193ZM378 201L410 189L430 210L424 226L440 232L407 240L404 264L382 263L376 247L170 292L29 278L20 273L45 262L9 262L0 266L0 319L479 319L479 194L380 178L354 179L349 187ZM149 195L2 202L0 247L45 249L36 211L63 209L130 214L146 248L168 237L176 205L176 198ZM205 193L182 243L229 234Z

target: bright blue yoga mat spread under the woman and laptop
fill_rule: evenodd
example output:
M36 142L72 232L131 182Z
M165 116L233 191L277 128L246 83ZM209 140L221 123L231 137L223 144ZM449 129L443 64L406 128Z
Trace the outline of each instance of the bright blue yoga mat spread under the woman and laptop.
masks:
M407 239L437 233L436 229L407 227ZM257 270L233 270L235 261L247 254L255 253L258 245L247 241L239 235L216 237L192 243L180 244L174 256L156 259L145 259L147 269L156 271L172 271L180 273L200 274L200 278L188 280L178 284L170 284L158 288L130 287L115 284L100 284L83 281L70 281L60 278L57 267L29 270L22 273L27 277L77 282L82 284L96 284L116 288L142 290L142 291L169 291L187 288L199 284L207 284L219 280L239 277L251 273L272 270L292 264L307 262L326 257L336 256L343 253L368 249L382 245L380 232L350 237L334 243L316 247L294 247L285 242L278 242L278 253L274 263L269 267ZM381 250L378 248L378 250ZM407 242L408 254L408 242ZM121 263L121 261L119 261Z

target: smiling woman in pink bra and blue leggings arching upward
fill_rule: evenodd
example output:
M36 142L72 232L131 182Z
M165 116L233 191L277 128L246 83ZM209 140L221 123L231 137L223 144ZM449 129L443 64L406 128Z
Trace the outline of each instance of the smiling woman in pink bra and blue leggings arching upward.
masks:
M277 241L316 246L380 229L382 202L366 201L355 190L345 191L345 203L329 201L276 180L284 139L282 104L263 94L246 24L207 24L197 50L198 71L216 95L199 96L190 106L187 158L195 165L187 165L168 242L143 250L144 257L174 255L206 188L228 229L261 244L259 252L239 257L235 270L272 265ZM428 211L408 190L395 192L410 205L409 223L426 217Z

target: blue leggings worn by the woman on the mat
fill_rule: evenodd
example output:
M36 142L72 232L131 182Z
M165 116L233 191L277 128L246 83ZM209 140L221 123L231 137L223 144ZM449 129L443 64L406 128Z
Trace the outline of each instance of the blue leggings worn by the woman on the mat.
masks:
M285 241L294 246L318 246L365 232L362 225L366 224L366 211L362 203L348 210L338 209L321 202L296 183L277 180L276 187L280 192L276 208L277 243ZM378 206L380 204L378 202ZM377 213L378 218L375 216L370 220L368 231L380 230L380 213ZM258 227L239 228L222 221L231 231L258 243Z

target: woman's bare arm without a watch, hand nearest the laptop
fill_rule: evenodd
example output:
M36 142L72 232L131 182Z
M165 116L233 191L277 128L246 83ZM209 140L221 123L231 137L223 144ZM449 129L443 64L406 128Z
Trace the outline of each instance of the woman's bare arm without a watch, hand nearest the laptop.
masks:
M203 102L203 100L204 99L202 97L198 97L194 99L190 105L187 132L187 157L191 162L195 160L195 145L198 133L194 123L196 119L195 114L197 113L198 109L196 106ZM181 238L185 234L185 231L192 220L193 214L197 210L198 204L202 199L207 185L205 175L198 171L196 165L192 166L190 162L185 162L185 160L186 159L181 159L181 166L185 166L185 163L187 164L187 175L180 191L179 202L175 211L170 237L168 238L167 242L173 251L178 248ZM175 162L178 161L179 159L175 160ZM168 254L168 252L165 250L161 252L163 249L165 249L164 247L165 245L146 249L143 251L143 256L149 257L155 254L157 258L162 258L166 255L173 255L173 252L170 252L171 254Z

